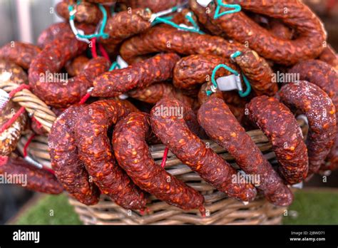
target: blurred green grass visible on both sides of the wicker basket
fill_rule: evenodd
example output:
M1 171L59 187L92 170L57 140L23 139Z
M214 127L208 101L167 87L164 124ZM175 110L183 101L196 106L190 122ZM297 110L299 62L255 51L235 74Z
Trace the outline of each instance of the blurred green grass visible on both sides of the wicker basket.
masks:
M51 216L51 210L53 215ZM81 224L66 195L46 196L15 224ZM299 190L283 224L338 224L338 191Z

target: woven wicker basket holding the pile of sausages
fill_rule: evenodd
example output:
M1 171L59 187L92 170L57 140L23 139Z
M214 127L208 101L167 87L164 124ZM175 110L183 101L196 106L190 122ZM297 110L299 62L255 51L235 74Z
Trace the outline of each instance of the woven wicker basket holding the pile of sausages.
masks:
M304 136L307 133L307 125L304 120L299 120ZM267 137L261 130L247 132L252 140L260 148L264 156L272 163L277 165L275 154L271 151ZM27 137L22 137L19 142L19 150L22 151ZM51 162L48 154L48 138L37 136L29 145L29 155L41 165L50 167ZM225 160L237 167L231 155L225 152L217 144L210 140L210 148L220 154ZM153 145L150 147L151 154L156 162L160 164L164 153L164 145ZM161 202L155 197L150 196L150 203L147 205L148 212L124 210L114 204L105 195L101 196L98 205L86 206L69 198L71 205L75 207L81 221L84 224L281 224L282 216L287 210L286 207L276 207L271 205L265 198L258 196L250 203L238 202L227 198L225 194L215 190L212 186L205 183L198 174L192 172L190 168L183 165L175 155L168 153L165 169L180 180L187 182L188 185L202 192L205 197L206 217L202 217L198 210L184 211L178 207L173 207L165 202Z

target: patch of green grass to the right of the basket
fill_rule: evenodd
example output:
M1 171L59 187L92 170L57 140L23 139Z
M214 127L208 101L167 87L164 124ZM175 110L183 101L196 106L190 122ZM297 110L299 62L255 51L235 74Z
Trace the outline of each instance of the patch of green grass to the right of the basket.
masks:
M338 192L299 190L288 215L283 224L338 224Z

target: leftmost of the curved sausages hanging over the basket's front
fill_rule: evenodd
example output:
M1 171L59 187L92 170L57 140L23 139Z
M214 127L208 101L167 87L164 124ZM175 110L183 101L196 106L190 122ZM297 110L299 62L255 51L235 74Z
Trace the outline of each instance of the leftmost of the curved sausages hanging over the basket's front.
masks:
M98 203L100 191L89 180L88 172L78 157L75 140L75 123L83 105L67 108L53 123L48 137L51 166L64 189L85 205Z

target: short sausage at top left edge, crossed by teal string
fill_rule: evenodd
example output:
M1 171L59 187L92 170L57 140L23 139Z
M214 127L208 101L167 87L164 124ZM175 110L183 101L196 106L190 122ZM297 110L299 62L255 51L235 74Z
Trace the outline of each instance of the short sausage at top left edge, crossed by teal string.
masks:
M56 4L56 13L63 19L69 20L68 6L71 3L70 0L63 0ZM86 24L98 24L102 19L102 12L98 9L95 4L81 1L80 4L76 5L75 20Z

